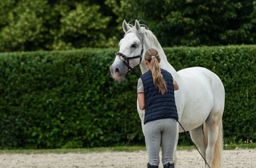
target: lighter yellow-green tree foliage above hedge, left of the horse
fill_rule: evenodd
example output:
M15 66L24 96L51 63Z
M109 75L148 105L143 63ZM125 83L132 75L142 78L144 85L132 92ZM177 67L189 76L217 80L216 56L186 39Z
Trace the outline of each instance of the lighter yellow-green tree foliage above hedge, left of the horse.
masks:
M0 50L106 47L108 23L99 4L86 1L1 1Z

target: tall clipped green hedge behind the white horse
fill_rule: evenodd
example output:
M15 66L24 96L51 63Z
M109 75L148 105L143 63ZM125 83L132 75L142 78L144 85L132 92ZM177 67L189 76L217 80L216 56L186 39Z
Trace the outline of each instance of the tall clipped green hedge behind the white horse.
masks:
M137 77L129 73L121 84L110 77L117 50L1 53L0 148L143 144ZM226 142L256 140L255 45L168 47L165 53L176 70L204 66L222 79Z

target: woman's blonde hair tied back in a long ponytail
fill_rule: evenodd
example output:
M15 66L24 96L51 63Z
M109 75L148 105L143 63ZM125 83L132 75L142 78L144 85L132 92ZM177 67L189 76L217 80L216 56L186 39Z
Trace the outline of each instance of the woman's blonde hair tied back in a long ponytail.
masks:
M167 92L167 85L161 74L159 66L160 57L157 50L154 48L148 49L145 53L145 60L150 64L154 85L159 90L159 93L164 95Z

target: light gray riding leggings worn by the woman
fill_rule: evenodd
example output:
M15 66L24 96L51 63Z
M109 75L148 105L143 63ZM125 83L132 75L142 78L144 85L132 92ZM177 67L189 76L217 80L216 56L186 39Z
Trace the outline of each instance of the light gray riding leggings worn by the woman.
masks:
M162 164L173 164L173 149L176 140L177 121L167 118L145 124L145 141L148 163L159 165L159 150L162 147Z

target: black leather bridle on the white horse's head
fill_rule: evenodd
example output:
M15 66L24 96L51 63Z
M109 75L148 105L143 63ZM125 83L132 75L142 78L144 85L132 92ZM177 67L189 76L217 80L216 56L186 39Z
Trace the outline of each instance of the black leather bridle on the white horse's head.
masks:
M116 53L116 56L118 56L118 58L121 59L121 61L124 63L124 65L126 65L126 66L128 67L128 70L131 70L132 73L134 73L134 74L135 74L137 77L139 77L139 78L140 78L140 75L138 75L138 73L135 72L135 70L132 69L131 66L129 66L129 60L130 60L130 59L135 59L135 58L140 58L140 63L141 63L142 54L143 54L143 51L144 51L143 42L144 42L144 38L143 38L143 36L142 36L142 41L141 41L141 43L142 43L142 48L141 48L141 51L140 51L140 55L139 55L139 56L127 57L127 56L125 56L123 53L119 53L119 52ZM140 65L140 64L138 64L138 65Z

